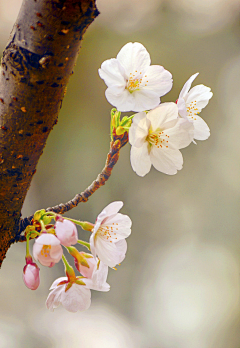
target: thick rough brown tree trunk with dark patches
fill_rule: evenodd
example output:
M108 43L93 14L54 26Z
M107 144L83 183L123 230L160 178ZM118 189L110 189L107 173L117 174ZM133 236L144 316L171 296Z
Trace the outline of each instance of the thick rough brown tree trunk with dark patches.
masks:
M0 266L57 123L95 0L24 0L0 70Z

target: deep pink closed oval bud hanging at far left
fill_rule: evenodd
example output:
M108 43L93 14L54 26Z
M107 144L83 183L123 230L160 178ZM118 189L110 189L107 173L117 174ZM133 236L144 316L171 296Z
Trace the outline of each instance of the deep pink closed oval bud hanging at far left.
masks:
M39 267L32 261L31 256L26 257L26 265L23 268L23 281L31 290L36 290L40 284Z

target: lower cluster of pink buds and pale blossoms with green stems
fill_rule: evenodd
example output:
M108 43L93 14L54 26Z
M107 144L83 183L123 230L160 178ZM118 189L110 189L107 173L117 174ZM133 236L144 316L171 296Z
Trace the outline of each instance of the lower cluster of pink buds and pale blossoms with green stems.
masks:
M29 253L29 239L35 238L33 257L43 266L53 267L61 259L66 277L56 279L46 301L47 308L54 310L60 304L70 312L88 309L91 304L91 289L109 291L106 282L108 267L120 264L126 255L127 238L131 233L131 220L118 213L122 202L109 204L97 217L95 224L63 218L61 215L37 211L32 225L25 232L27 239L26 265L23 269L25 285L36 290L40 284L39 267ZM52 220L55 224L51 224ZM89 243L78 239L77 225L90 231ZM90 253L79 252L75 244L87 247ZM81 275L76 276L63 255L63 247L74 257L75 267Z

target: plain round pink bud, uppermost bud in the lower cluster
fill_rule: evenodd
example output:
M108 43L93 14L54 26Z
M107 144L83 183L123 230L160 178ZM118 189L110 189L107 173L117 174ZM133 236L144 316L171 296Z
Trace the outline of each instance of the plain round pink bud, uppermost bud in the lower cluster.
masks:
M57 220L55 224L55 232L61 244L66 247L74 245L78 241L77 227L69 220Z

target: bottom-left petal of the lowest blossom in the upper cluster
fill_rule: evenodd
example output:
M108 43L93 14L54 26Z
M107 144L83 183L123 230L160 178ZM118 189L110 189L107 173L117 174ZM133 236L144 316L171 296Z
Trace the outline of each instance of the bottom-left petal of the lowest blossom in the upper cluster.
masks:
M146 175L151 169L151 160L148 151L148 142L141 147L132 146L130 153L131 166L134 172L139 176Z

